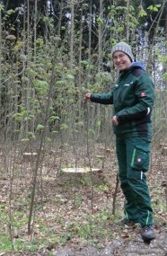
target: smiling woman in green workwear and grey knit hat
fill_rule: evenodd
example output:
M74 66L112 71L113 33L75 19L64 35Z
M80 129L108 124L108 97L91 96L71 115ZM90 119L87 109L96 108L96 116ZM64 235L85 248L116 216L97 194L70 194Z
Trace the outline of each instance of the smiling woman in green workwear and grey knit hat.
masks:
M111 118L116 135L119 180L126 197L121 224L139 223L142 238L155 238L153 210L145 172L148 171L152 139L151 113L154 106L154 84L140 62L133 62L130 46L119 42L112 49L119 78L110 93L87 93L86 101L113 104Z

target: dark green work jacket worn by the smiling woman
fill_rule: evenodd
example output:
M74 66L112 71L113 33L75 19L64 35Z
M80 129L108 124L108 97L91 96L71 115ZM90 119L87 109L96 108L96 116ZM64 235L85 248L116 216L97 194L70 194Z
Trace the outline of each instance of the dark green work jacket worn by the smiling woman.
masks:
M92 93L91 102L114 104L113 115L119 137L147 137L151 139L151 113L154 106L154 84L140 62L134 62L119 78L110 93Z

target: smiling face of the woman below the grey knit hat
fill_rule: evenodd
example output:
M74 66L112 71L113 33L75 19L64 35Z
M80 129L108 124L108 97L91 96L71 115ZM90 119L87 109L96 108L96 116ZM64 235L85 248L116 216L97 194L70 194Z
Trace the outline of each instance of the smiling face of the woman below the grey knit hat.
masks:
M119 71L127 69L132 64L130 57L128 57L123 51L115 51L112 59L114 61L114 66L118 68Z

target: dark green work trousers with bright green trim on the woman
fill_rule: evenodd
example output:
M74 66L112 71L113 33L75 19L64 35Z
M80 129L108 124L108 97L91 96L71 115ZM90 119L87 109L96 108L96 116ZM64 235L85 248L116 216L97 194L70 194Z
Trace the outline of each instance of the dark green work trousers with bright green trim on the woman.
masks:
M127 220L153 225L153 209L146 172L149 168L150 142L146 137L116 137L120 187L126 197Z

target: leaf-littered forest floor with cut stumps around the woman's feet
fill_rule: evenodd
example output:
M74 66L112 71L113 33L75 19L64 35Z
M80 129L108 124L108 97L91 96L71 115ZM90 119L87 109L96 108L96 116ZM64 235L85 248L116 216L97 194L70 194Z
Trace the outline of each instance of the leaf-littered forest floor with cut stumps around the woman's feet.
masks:
M114 150L96 146L93 161L88 157L87 163L84 157L82 160L78 157L83 155L83 149L77 152L77 163L70 150L63 154L61 150L48 155L39 170L31 234L27 226L33 159L30 163L16 157L17 161L11 160L5 172L6 162L2 157L0 256L167 256L167 158L160 149L154 149L147 178L156 233L156 239L150 244L142 241L138 225L117 224L123 216L124 197L119 188L114 207L118 171ZM88 163L101 171L65 173L59 170L60 165L78 167Z

